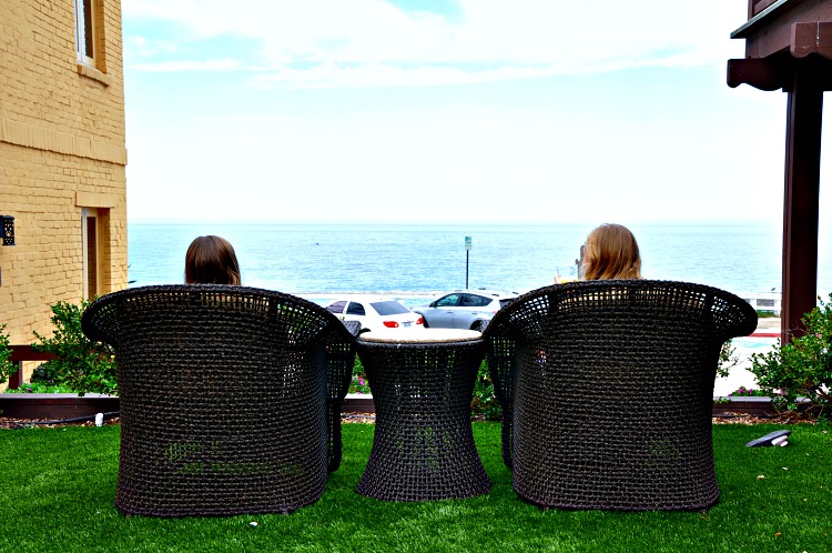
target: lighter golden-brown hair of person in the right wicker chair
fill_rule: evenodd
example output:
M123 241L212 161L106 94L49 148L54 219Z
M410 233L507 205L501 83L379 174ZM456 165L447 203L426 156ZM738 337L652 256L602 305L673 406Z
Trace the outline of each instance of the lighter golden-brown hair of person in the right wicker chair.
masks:
M632 232L620 224L602 224L587 237L584 279L640 279L639 244Z

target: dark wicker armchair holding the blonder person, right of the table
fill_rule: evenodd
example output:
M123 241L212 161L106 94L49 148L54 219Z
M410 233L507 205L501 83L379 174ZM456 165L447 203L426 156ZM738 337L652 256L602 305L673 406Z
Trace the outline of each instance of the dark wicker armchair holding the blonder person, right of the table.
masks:
M755 325L733 294L649 280L557 284L501 309L486 356L515 491L544 507L714 504L718 359Z

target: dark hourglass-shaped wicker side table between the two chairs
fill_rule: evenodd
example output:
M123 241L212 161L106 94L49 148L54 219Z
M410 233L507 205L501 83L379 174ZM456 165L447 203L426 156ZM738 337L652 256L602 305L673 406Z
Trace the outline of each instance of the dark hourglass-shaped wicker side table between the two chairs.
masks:
M491 489L474 444L470 400L481 334L418 329L357 343L376 408L373 450L356 491L387 501L481 495Z

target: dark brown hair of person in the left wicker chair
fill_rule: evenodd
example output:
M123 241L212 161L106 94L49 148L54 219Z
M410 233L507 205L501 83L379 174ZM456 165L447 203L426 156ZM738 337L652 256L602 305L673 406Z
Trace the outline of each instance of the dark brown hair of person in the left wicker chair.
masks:
M220 237L197 237L185 254L185 283L240 284L240 264L231 243Z

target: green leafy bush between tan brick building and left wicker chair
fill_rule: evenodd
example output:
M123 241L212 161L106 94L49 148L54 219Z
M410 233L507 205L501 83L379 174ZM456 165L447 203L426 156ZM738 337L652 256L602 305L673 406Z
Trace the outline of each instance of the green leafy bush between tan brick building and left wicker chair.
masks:
M81 313L89 305L58 302L52 305L52 338L34 332L41 343L32 344L34 351L52 353L58 359L47 361L32 378L49 384L65 384L83 395L87 392L116 394L115 361L112 349L90 341L81 331Z

